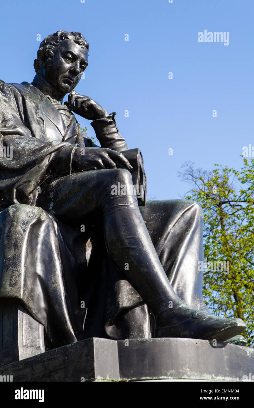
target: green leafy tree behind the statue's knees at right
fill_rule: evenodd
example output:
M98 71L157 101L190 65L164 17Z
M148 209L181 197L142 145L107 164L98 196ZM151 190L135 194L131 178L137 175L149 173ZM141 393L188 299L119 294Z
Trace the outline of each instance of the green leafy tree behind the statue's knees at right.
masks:
M193 186L189 200L204 212L204 255L229 261L229 271L204 271L203 294L212 313L240 317L245 337L254 346L254 159L243 159L241 171L215 164L212 171L185 163L180 175ZM207 268L209 269L209 268Z

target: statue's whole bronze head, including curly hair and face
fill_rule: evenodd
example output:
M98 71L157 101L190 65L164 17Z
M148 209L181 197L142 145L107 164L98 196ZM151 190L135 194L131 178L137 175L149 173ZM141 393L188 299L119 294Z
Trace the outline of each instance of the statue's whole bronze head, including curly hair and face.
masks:
M60 93L73 91L88 65L89 44L81 33L56 31L40 44L35 72Z

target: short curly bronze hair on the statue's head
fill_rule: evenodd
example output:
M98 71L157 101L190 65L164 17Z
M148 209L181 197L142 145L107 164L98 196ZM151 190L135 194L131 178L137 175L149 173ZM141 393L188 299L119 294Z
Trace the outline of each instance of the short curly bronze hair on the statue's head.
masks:
M34 60L33 67L35 72L40 69L40 62L50 61L53 58L54 51L59 45L60 41L73 40L76 44L79 44L81 48L87 48L89 51L89 44L81 33L76 31L56 31L53 34L48 35L40 43L40 47L37 51L37 59Z

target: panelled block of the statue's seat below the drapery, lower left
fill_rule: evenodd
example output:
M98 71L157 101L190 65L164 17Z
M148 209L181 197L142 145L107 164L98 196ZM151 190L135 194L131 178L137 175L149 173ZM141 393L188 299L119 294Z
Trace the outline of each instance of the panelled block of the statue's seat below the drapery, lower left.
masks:
M0 366L44 352L43 326L18 300L0 298Z

